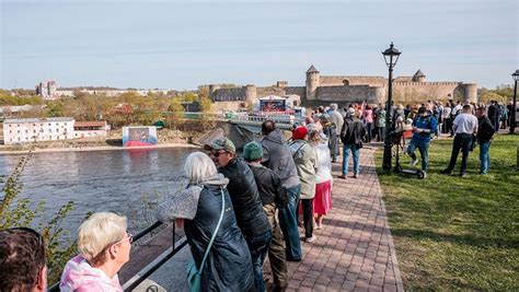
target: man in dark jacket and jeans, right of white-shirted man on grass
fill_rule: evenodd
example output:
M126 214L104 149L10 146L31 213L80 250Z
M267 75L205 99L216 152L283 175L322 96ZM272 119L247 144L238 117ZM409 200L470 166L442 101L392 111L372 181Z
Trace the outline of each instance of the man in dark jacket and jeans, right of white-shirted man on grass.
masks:
M480 144L480 174L485 175L491 167L491 140L496 132L496 128L486 116L485 107L477 108L476 116L478 121L476 138Z

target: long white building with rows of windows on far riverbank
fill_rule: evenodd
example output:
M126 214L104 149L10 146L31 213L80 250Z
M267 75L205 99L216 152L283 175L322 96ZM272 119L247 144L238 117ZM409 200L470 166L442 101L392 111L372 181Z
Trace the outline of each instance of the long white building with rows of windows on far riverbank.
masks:
M23 118L3 121L3 143L18 144L74 138L73 118Z

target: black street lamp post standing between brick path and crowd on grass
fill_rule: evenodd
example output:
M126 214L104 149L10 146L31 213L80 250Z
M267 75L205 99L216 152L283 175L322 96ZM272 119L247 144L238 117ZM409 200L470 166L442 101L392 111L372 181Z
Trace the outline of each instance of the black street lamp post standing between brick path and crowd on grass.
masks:
M391 132L394 131L393 127L393 68L396 66L399 56L402 54L393 46L393 42L389 49L382 51L384 56L385 65L389 68L389 79L388 79L388 103L385 104L385 139L384 139L384 156L382 162L382 168L387 172L391 171L391 159L392 159L392 148L393 141L390 139Z

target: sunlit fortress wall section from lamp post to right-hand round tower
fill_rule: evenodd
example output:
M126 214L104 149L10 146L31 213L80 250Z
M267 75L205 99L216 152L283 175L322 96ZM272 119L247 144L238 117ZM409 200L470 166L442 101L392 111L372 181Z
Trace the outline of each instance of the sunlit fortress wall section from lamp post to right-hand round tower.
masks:
M394 82L395 103L425 103L428 100L447 100L454 96L459 82Z

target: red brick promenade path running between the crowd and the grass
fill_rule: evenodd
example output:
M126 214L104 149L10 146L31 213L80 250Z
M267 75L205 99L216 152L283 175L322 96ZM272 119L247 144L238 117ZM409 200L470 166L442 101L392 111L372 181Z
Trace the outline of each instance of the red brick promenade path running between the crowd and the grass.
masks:
M359 178L336 178L341 163L333 165L332 210L324 219L324 229L315 230L315 242L302 243L302 260L289 262L287 291L403 291L374 168L374 150L361 149ZM150 285L154 288L151 291L186 291L189 257L188 248L184 248L134 291L150 291ZM264 267L272 282L268 260Z

